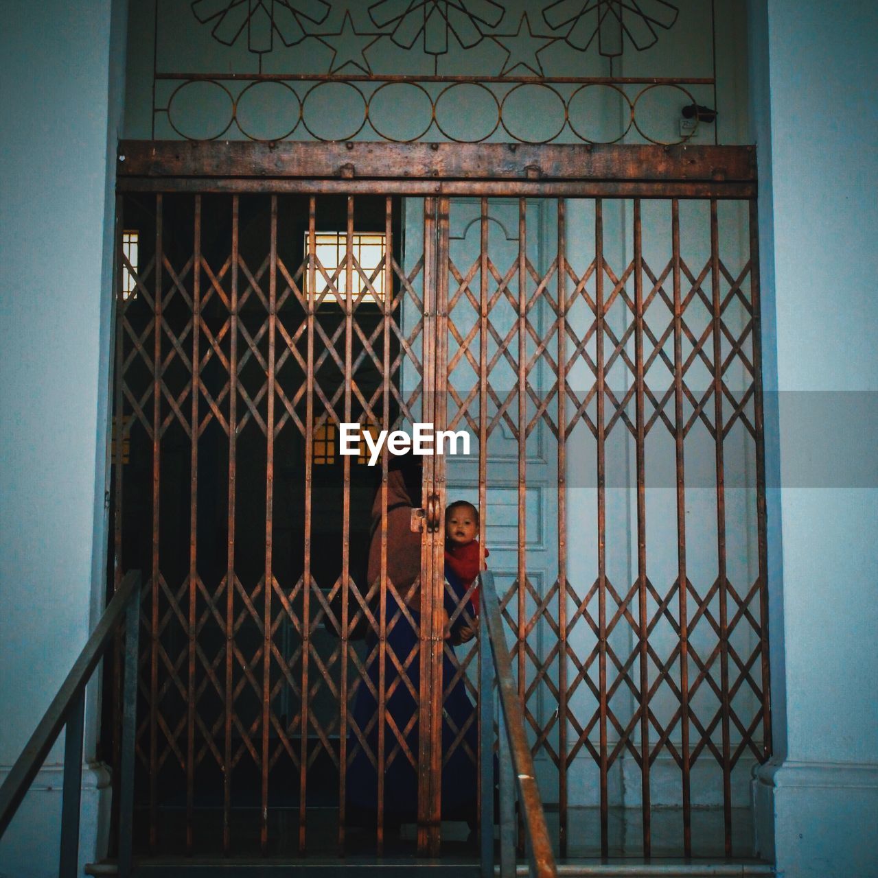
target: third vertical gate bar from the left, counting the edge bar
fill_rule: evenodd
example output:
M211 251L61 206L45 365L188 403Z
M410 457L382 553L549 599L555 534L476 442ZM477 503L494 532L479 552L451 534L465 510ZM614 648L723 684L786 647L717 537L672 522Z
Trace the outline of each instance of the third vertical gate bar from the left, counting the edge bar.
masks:
M195 196L192 262L192 418L189 451L189 675L186 691L186 853L192 854L195 799L195 623L198 594L198 398L199 329L201 320L201 196Z

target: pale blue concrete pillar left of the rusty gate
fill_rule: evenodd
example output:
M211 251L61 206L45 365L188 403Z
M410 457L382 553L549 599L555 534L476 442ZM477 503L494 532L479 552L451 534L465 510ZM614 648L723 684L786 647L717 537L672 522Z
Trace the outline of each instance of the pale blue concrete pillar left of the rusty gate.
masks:
M4 4L0 29L0 780L104 603L115 144L127 3ZM94 689L95 687L92 687ZM105 769L87 709L81 861ZM0 874L58 874L63 737L0 843Z

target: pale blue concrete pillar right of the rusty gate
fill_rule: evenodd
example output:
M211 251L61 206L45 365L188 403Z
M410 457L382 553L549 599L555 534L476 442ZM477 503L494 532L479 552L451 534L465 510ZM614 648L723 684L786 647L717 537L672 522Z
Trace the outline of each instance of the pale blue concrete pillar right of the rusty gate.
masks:
M775 724L775 759L753 784L758 846L790 878L866 878L878 868L878 7L755 0L751 13Z

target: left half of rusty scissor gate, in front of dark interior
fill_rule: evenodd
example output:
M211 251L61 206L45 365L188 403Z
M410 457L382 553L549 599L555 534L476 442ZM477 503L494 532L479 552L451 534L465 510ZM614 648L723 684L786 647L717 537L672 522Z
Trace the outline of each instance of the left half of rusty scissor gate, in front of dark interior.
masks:
M120 220L138 247L120 247L133 291L117 305L112 558L117 581L139 567L150 582L139 843L344 845L355 770L359 799L374 786L381 844L388 763L427 774L422 632L417 612L381 616L399 598L385 573L364 579L386 463L342 456L338 424L429 420L424 254L410 241L403 259L391 198L131 195ZM383 261L369 261L366 232L384 235ZM427 563L424 549L416 592ZM364 615L376 632L410 625L410 650L349 638ZM379 673L388 689L415 680L410 716L385 723L384 692L364 718L359 690Z

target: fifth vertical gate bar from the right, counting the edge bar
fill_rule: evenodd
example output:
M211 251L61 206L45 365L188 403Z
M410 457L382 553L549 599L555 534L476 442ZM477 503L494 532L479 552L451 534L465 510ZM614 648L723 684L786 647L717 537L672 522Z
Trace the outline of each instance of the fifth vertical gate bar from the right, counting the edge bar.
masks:
M606 740L606 402L604 374L604 204L594 202L595 360L597 363L598 418L598 674L600 737L600 855L609 853L610 805L607 790L609 754Z

